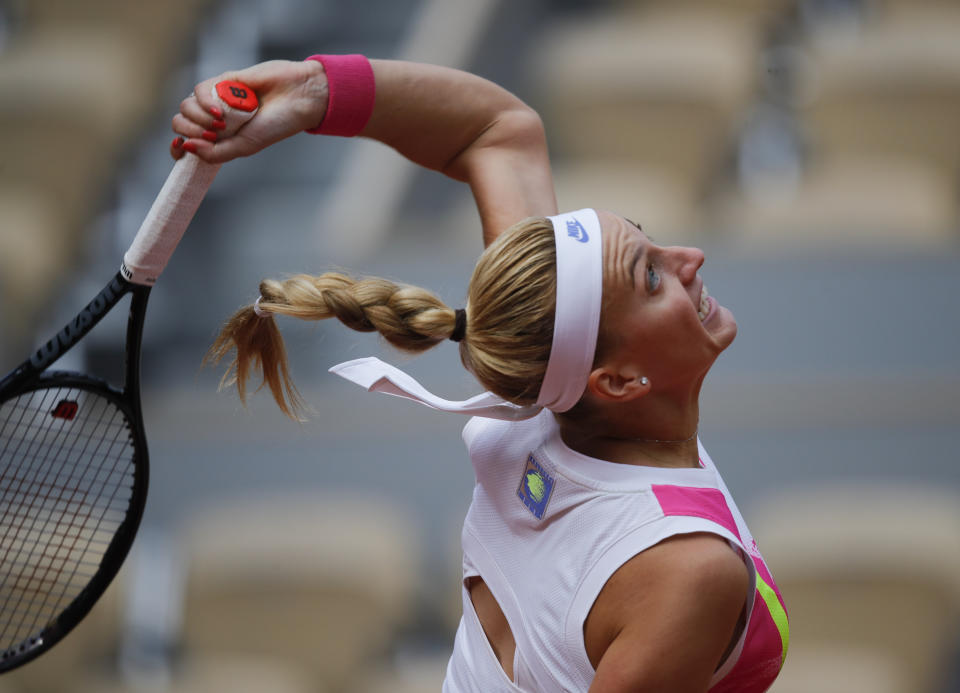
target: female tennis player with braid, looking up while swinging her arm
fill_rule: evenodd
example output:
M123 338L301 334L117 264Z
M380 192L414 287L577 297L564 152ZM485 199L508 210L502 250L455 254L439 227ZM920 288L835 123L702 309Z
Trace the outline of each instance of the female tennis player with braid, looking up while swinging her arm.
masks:
M222 79L261 104L231 137L207 96ZM701 383L737 331L707 294L700 250L657 245L611 212L558 214L539 116L456 70L271 61L197 85L173 128L174 157L212 162L303 130L361 135L473 191L486 250L465 309L378 278L266 280L211 348L215 360L235 351L225 377L241 396L257 367L296 415L275 315L337 317L411 352L459 342L487 390L463 402L378 359L331 369L472 416L477 482L444 691L770 687L787 650L783 601L697 437Z

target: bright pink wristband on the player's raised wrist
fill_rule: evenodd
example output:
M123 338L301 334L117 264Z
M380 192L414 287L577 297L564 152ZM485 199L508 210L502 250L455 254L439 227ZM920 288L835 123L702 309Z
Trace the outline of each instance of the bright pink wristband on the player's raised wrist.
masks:
M323 122L307 130L313 135L354 137L373 114L376 83L370 61L363 55L311 55L327 74L327 111Z

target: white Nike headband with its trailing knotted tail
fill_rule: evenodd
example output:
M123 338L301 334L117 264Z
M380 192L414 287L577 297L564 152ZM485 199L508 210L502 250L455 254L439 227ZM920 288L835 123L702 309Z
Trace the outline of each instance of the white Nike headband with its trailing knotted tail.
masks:
M516 421L546 407L564 412L587 387L593 367L603 298L603 246L600 220L592 209L549 217L557 253L557 303L550 359L537 403L521 407L491 392L454 402L437 397L398 368L368 357L340 363L331 373L371 392L405 397L440 411Z

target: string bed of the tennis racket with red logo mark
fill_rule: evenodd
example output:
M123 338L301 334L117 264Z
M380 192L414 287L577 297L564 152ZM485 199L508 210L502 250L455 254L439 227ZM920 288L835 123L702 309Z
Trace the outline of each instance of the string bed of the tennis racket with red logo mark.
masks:
M123 523L135 447L123 412L79 388L0 404L0 653L76 599Z

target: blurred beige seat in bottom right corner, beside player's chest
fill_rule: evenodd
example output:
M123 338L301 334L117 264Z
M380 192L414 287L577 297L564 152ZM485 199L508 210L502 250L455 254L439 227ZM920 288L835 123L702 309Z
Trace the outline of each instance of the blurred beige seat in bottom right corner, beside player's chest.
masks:
M811 658L860 653L851 666L886 660L901 672L897 693L943 691L960 642L960 496L848 482L771 495L747 517L785 596L791 642Z

